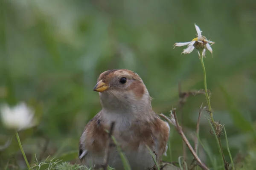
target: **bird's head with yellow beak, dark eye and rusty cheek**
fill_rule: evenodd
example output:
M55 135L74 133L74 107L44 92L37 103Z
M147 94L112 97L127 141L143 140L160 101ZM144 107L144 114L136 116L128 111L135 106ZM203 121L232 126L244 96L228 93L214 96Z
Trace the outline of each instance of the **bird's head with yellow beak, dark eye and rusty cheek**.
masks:
M100 74L93 89L99 92L103 110L117 112L151 111L151 97L138 74L126 69Z

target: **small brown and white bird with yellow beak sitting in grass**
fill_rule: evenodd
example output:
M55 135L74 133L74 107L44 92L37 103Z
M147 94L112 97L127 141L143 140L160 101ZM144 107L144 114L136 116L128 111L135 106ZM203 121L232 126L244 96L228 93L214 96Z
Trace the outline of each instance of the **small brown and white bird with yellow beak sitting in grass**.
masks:
M123 170L118 145L131 170L149 170L168 148L170 127L153 111L151 96L140 76L127 69L100 74L93 91L99 92L102 110L84 128L79 141L79 159L86 167L101 166L108 147L108 130L114 122L108 165ZM150 152L151 150L152 152ZM154 154L152 154L154 153ZM153 157L154 159L153 159Z

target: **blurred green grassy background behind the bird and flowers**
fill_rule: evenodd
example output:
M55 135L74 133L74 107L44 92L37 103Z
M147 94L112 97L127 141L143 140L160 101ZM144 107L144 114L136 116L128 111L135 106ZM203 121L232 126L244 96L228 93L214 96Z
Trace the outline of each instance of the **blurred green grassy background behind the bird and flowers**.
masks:
M226 127L232 156L250 164L256 157L254 0L1 0L0 102L25 101L36 109L38 126L20 132L29 161L35 153L40 160L51 155L78 161L79 137L101 110L92 89L100 73L118 68L140 75L156 113L177 108L193 145L206 100L191 96L180 111L178 83L182 91L203 89L203 72L196 51L180 55L183 47L173 49L173 44L191 41L194 23L215 42L213 57L208 51L205 59L214 118ZM221 165L209 130L202 116L201 141ZM1 145L13 135L0 126ZM170 144L164 159L177 161L183 151L174 127ZM211 167L209 157L200 155ZM0 169L7 162L14 169L26 167L15 138L0 150Z

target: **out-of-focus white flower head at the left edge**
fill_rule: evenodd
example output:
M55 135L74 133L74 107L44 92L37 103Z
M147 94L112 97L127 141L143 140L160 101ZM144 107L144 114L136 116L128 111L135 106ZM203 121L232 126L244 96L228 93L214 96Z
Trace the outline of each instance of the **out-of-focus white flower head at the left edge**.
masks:
M34 110L24 102L20 102L12 108L6 104L2 105L0 112L3 125L6 128L23 130L36 125Z

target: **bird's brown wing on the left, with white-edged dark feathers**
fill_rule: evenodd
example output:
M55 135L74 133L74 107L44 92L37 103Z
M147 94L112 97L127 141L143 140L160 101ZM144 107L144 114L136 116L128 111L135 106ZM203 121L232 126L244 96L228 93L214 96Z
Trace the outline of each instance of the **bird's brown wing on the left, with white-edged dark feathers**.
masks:
M79 141L79 159L82 161L91 150L93 152L104 152L107 132L102 124L101 112L96 114L84 128ZM105 139L106 138L106 139Z

